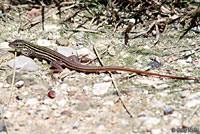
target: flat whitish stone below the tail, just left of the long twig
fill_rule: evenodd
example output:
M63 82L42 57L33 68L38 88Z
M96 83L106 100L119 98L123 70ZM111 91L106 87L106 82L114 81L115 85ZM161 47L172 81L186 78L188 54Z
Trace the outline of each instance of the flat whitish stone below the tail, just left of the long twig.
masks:
M102 82L102 83L96 83L93 86L93 95L96 96L102 96L105 95L108 92L108 89L111 86L111 82Z

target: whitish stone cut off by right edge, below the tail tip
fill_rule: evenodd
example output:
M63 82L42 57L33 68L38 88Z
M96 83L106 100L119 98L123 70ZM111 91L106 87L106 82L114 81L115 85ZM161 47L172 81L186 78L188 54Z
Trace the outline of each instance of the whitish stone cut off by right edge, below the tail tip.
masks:
M185 103L185 107L191 108L191 107L194 107L194 106L199 105L199 104L200 104L200 92L190 95L187 98L187 101Z

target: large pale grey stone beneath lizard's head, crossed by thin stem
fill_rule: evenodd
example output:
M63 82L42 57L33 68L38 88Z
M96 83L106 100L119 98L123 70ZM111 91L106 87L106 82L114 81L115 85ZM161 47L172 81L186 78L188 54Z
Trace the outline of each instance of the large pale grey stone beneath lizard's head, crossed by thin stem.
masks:
M7 62L7 65L11 68L14 67L14 59ZM38 65L34 62L33 59L26 56L16 57L16 69L22 69L24 71L37 71Z

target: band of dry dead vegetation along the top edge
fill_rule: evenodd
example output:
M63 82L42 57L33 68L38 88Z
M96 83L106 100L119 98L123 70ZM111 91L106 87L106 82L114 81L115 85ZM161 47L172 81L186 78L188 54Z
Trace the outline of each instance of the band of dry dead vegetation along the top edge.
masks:
M73 13L66 14L66 10L73 9ZM139 36L155 36L157 44L160 34L166 32L169 24L184 27L183 38L192 28L199 25L200 4L197 1L165 1L165 0L16 0L0 3L1 19L9 21L15 19L10 15L11 10L19 12L20 27L18 31L31 28L42 23L55 14L59 14L60 23L74 23L74 17L84 12L79 25L74 27L89 32L102 32L102 27L112 28L113 33L119 31L124 36L125 45L129 38ZM86 22L95 24L95 29L84 27ZM142 30L139 30L142 29ZM199 32L199 31L197 31Z

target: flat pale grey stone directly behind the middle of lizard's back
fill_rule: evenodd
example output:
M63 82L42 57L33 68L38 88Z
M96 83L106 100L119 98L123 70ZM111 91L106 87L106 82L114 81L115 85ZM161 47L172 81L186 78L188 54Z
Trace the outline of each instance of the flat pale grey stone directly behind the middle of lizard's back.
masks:
M65 46L58 46L57 52L63 54L66 57L77 55L76 50L71 47L65 47Z

